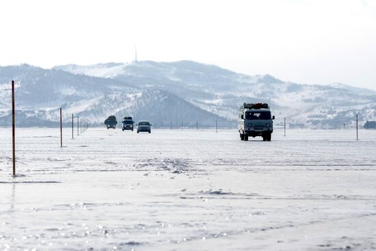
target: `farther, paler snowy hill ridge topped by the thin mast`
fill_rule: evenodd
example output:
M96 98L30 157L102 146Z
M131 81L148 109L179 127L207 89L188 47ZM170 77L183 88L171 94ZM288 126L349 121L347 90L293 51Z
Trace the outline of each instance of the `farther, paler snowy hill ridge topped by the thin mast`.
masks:
M268 102L279 118L276 122L286 117L292 125L310 127L342 127L344 123L353 123L356 113L361 120L371 120L376 109L376 92L372 90L339 83L325 86L284 82L270 75L243 75L190 61L57 68L126 81L144 90L165 90L201 109L234 120L244 101Z

